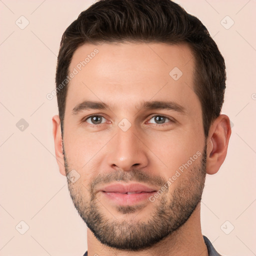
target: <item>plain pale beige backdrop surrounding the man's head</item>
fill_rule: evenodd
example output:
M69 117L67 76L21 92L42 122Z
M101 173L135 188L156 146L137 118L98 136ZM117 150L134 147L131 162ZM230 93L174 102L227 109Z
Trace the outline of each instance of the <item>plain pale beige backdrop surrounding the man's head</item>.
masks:
M0 0L1 256L82 255L87 248L86 226L54 157L56 97L46 94L55 86L62 33L92 2ZM222 113L233 123L232 134L219 172L206 177L202 233L223 255L256 255L256 0L177 2L208 28L227 66ZM29 21L24 29L21 15ZM22 123L16 126L21 118L28 123L23 131ZM29 226L24 234L21 220Z

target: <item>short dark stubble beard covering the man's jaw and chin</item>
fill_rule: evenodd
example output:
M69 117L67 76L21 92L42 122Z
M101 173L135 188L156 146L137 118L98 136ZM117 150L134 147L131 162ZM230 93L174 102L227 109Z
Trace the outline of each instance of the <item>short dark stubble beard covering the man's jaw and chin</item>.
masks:
M65 171L68 173L70 170L65 154L64 160ZM181 182L178 181L179 177L177 178L175 182L179 182L179 186L173 189L171 199L168 193L171 189L168 189L154 202L147 202L155 205L153 210L147 213L146 222L135 219L143 210L143 205L116 205L116 211L109 209L105 214L102 209L107 210L98 200L93 186L89 189L84 186L77 187L67 179L68 190L78 214L102 244L120 250L139 251L153 246L181 227L200 202L206 175L206 145L200 165L193 166L184 172L189 173L182 173ZM139 176L138 173L141 175ZM142 177L143 172L133 169L130 172L116 171L112 179L139 182ZM143 180L145 183L146 181L146 179ZM86 195L82 191L87 192ZM118 219L114 217L115 214L118 214ZM119 220L120 214L123 214L122 220ZM127 214L129 214L128 217ZM130 214L133 214L132 217Z

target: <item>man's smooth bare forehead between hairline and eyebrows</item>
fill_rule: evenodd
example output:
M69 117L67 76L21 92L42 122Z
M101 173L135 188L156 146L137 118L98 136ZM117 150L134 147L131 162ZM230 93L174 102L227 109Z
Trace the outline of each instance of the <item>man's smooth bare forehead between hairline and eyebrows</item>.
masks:
M75 74L68 84L66 109L83 100L128 107L166 99L195 107L193 70L194 58L185 43L83 44L69 65L69 74Z

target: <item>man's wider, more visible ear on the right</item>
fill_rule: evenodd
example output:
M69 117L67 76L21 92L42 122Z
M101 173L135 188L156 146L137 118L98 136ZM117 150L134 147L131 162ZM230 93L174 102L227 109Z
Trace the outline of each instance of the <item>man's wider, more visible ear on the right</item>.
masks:
M207 138L206 172L208 174L215 174L223 163L230 135L230 120L227 115L220 114L211 124Z

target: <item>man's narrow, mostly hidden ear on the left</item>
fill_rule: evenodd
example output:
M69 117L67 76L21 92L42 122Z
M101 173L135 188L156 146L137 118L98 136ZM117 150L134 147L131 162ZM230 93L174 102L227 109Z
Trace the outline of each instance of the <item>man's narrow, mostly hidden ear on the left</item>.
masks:
M66 174L65 174L65 165L64 165L64 155L62 152L60 119L58 115L54 115L52 117L52 133L54 138L55 155L56 155L59 172L65 176Z

